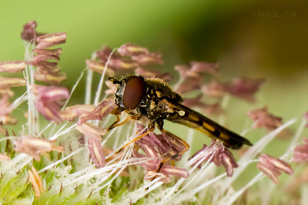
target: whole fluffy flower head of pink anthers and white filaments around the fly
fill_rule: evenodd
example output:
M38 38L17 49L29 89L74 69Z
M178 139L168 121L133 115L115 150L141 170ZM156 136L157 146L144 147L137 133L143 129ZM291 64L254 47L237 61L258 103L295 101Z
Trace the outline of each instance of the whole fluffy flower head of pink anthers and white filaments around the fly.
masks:
M122 134L131 133L131 130L128 130L127 132L125 131L125 126L121 127L123 130L116 130L117 128L114 129L113 131L116 131L115 134L113 132L109 132L111 129L110 127L108 129L107 127L108 125L122 125L130 119L130 117L127 117L124 118L125 120L122 119L121 121L122 116L117 116L117 121L114 124L111 124L109 121L110 115L121 114L115 104L114 96L108 97L108 95L115 93L117 89L116 85L111 81L105 82L108 89L104 91L106 95L103 98L104 100L101 102L95 99L93 104L91 104L91 101L89 100L88 104L77 104L66 107L72 93L70 93L66 87L59 85L66 79L65 73L60 73L60 68L58 67L58 61L60 60L59 56L61 55L62 50L61 48L51 48L53 46L65 43L67 37L66 33L37 33L35 30L36 26L37 24L35 21L27 23L24 25L24 29L21 34L22 39L31 44L29 48L31 50L33 49L32 52L35 53L35 55L31 56L30 59L27 57L26 61L0 62L0 72L24 72L24 76L26 78L23 79L19 77L0 76L0 134L4 133L5 136L3 139L0 139L3 141L3 144L5 142L5 148L2 149L1 147L0 149L2 152L0 153L0 178L1 180L4 179L5 182L7 181L7 183L4 183L5 185L0 183L0 188L4 190L3 193L5 194L5 197L2 194L3 200L1 202L6 204L11 203L12 201L13 202L11 204L23 202L22 200L14 201L11 198L13 198L12 196L19 198L29 195L28 193L30 190L27 189L27 186L29 185L30 187L31 183L33 188L32 196L35 196L35 199L32 197L32 200L37 200L35 203L45 203L48 201L50 203L57 204L62 199L65 199L66 202L69 203L72 196L75 198L77 195L82 195L82 200L80 200L80 202L85 204L93 204L94 201L88 201L88 199L92 197L92 191L93 193L100 194L96 194L96 196L93 197L95 199L97 196L102 197L105 195L102 194L103 192L110 193L112 192L110 190L116 190L113 189L113 186L123 183L123 181L121 181L121 183L112 183L116 176L120 175L119 170L121 170L122 174L124 173L123 175L125 176L134 175L135 173L133 172L137 170L137 174L135 175L138 175L139 178L140 172L138 172L136 167L132 167L132 170L134 171L126 169L126 167L131 164L140 165L145 170L144 179L151 180L151 182L146 182L144 186L152 186L151 183L155 183L154 179L157 179L163 183L168 183L171 181L172 176L182 178L181 180L178 180L172 189L157 191L158 194L155 202L161 201L162 204L168 204L170 199L175 198L175 196L181 197L175 200L173 199L173 202L175 202L174 204L181 202L182 198L187 200L187 196L193 198L194 195L201 190L201 188L203 189L204 186L210 186L218 179L224 178L226 175L230 178L226 178L224 180L229 180L228 183L230 182L229 185L231 185L238 174L244 170L245 164L255 161L259 162L259 164L257 164L257 168L275 183L279 182L278 177L282 172L290 175L293 174L294 171L291 168L291 165L281 160L282 157L279 159L267 154L261 154L259 159L255 160L254 157L256 156L256 153L259 153L261 147L258 142L255 143L255 146L250 147L246 152L247 155L250 155L251 157L249 158L249 156L246 156L246 159L249 158L248 160L244 162L240 161L237 164L231 151L226 148L220 140L212 140L210 145L204 144L203 148L189 158L189 161L186 165L184 165L184 169L179 167L179 163L175 161L181 160L182 154L188 150L189 145L180 138L182 136L176 137L163 129L160 129L161 134L148 132L149 130L147 127L143 126L146 124L146 118L142 118L141 120L135 122L135 130L133 131L132 136L136 137L137 135L137 137L140 137L143 134L145 135L138 140L135 138L133 140L136 140L135 144L133 146L129 146L128 149L122 149L122 147L120 150L123 150L123 152L115 152L113 149L117 147L118 142L121 140ZM33 46L33 48L31 46ZM146 79L156 79L163 82L170 82L174 79L171 73L161 72L154 68L147 68L150 65L161 65L162 63L163 61L159 52L150 52L149 49L132 43L124 44L117 50L111 50L109 47L104 47L93 55L93 59L86 61L86 65L90 69L87 77L92 77L92 71L98 73L106 72L108 75L121 75L121 72L127 72L130 70L134 71L136 74L144 76ZM247 77L240 77L227 82L220 82L218 80L220 69L217 63L192 61L189 66L181 65L176 66L174 69L178 71L180 76L180 80L174 85L174 87L177 92L183 94L182 96L184 97L184 101L182 104L188 107L199 108L201 113L206 114L221 113L223 116L223 114L225 114L224 109L226 109L226 107L221 106L221 103L223 102L223 99L229 99L229 96L242 99L246 102L255 102L256 100L254 95L264 82L264 79L251 79ZM101 76L101 79L103 80L103 75ZM38 85L35 83L35 80L43 81L51 85ZM92 82L87 78L87 83ZM102 85L102 83L100 84ZM22 97L17 98L14 102L10 102L10 99L14 95L11 88L16 86L27 86L27 92L25 92ZM87 86L87 88L89 87L91 86ZM186 96L192 96L193 93L191 91L197 93L196 96L185 98ZM97 93L100 94L101 92ZM92 96L89 96L89 99L91 99L91 97ZM215 103L205 103L202 99L203 97L212 98L211 100ZM99 96L97 99L99 99ZM28 115L31 116L28 124L26 124L26 126L28 126L28 130L23 127L18 136L15 135L14 131L12 131L14 136L9 136L7 127L2 126L15 125L17 123L17 119L12 117L11 113L16 107L18 107L19 104L26 100L28 100L29 105ZM66 103L64 103L64 101L66 101ZM130 112L131 111L128 111L127 113L130 114ZM51 121L53 123L50 123L42 130L40 130L39 126L37 126L35 131L33 129L31 130L30 127L32 125L35 126L40 123L38 122L38 118L36 118L38 117L38 114L41 114L47 121ZM282 118L275 117L270 114L267 111L267 107L248 112L248 117L254 121L253 128L265 128L268 131L277 131L277 129L284 126L282 123ZM308 119L308 113L305 115L305 118ZM34 120L35 122L32 122L31 120ZM57 125L62 123L63 125L61 125L61 128L60 126L57 127ZM69 128L67 128L68 125L70 126ZM287 126L283 128L286 127ZM47 130L49 128L50 130ZM58 128L59 130L57 130ZM48 133L48 139L44 138L46 130ZM57 130L56 134L54 133L55 130ZM271 134L274 135L275 131ZM67 135L64 138L59 138L60 145L56 145L56 139L67 133L70 133L70 135ZM267 137L274 137L271 134ZM104 145L110 144L109 141L105 143L109 140L109 136L116 138L112 141L114 146L113 149L105 147ZM264 138L266 139L266 137ZM297 137L294 138L296 139ZM307 150L308 139L304 138L303 145L298 145L294 150L290 149L288 152L290 152L289 154L293 153L292 161L307 162ZM57 158L57 156L54 157L52 151L63 153L58 154ZM25 153L28 156L25 157L26 155L18 154L16 152ZM252 152L254 155L251 154ZM42 154L46 156L44 160L41 160ZM81 157L83 160L80 160L80 156L75 158L75 154L82 155ZM10 159L10 157L12 157L12 159ZM243 157L243 159L245 159L245 157ZM69 160L71 160L71 164L69 164ZM41 162L38 163L36 161ZM205 162L214 162L216 166L223 165L227 174L218 176L210 181L204 181L205 179L203 178L206 177L199 177L199 175L195 175L194 172L195 167L201 168L201 164ZM93 164L97 169L94 168ZM244 165L243 169L241 169L241 167L237 168L241 165ZM28 171L21 171L22 169ZM36 169L38 171L36 171ZM61 170L58 171L58 174L60 173L59 175L61 176L54 177L55 175L53 171L57 169ZM16 174L13 174L14 176L10 178L10 174L6 173L7 170L17 171ZM199 170L200 176L209 176L208 173L202 171L204 171L204 169ZM26 176L28 180L19 180L19 177L21 178L22 176ZM262 175L259 174L258 176ZM196 183L191 183L192 180L196 179L196 177L199 177L199 181ZM212 177L212 175L210 177ZM184 178L188 178L185 179L185 185L182 184ZM301 179L307 180L306 178L304 177ZM17 189L12 189L11 193L9 193L8 190L10 188L8 188L8 185L14 183L19 183L17 186L20 186ZM72 186L75 186L75 183L76 188L74 190L74 187ZM134 183L134 188L135 184L138 183ZM104 189L107 186L111 187L111 189ZM116 190L114 192L116 192L117 195L118 193L127 193L128 186L130 185L127 185L123 189L125 191ZM180 186L183 186L183 189L179 189ZM183 190L185 191L188 186L195 186L195 188L190 192L181 193ZM49 189L46 189L48 187ZM82 189L79 187L82 187ZM52 192L55 192L55 190L57 192L56 195L60 196L59 198L56 198L51 194ZM61 193L62 190L65 190L65 192ZM72 190L73 192L71 192ZM240 191L241 190L237 192ZM135 195L138 195L138 197L132 203L136 203L137 200L144 196L140 189L136 189L133 192L134 197L136 198ZM138 194L136 194L137 192ZM6 193L9 193L7 197ZM18 195L16 195L16 193ZM84 195L84 193L86 193L86 195ZM225 192L223 191L222 193ZM65 195L68 195L69 197L65 198ZM100 202L101 204L108 201L107 198L109 196L107 195L108 194L103 196L105 198ZM236 193L233 196L236 196ZM133 197L131 198L131 196L129 196L128 198L132 199ZM230 197L230 199L232 199L232 197ZM176 202L176 200L179 201ZM96 201L94 203L96 203ZM130 202L125 201L125 203L122 204L127 203ZM232 204L232 202L227 204Z

